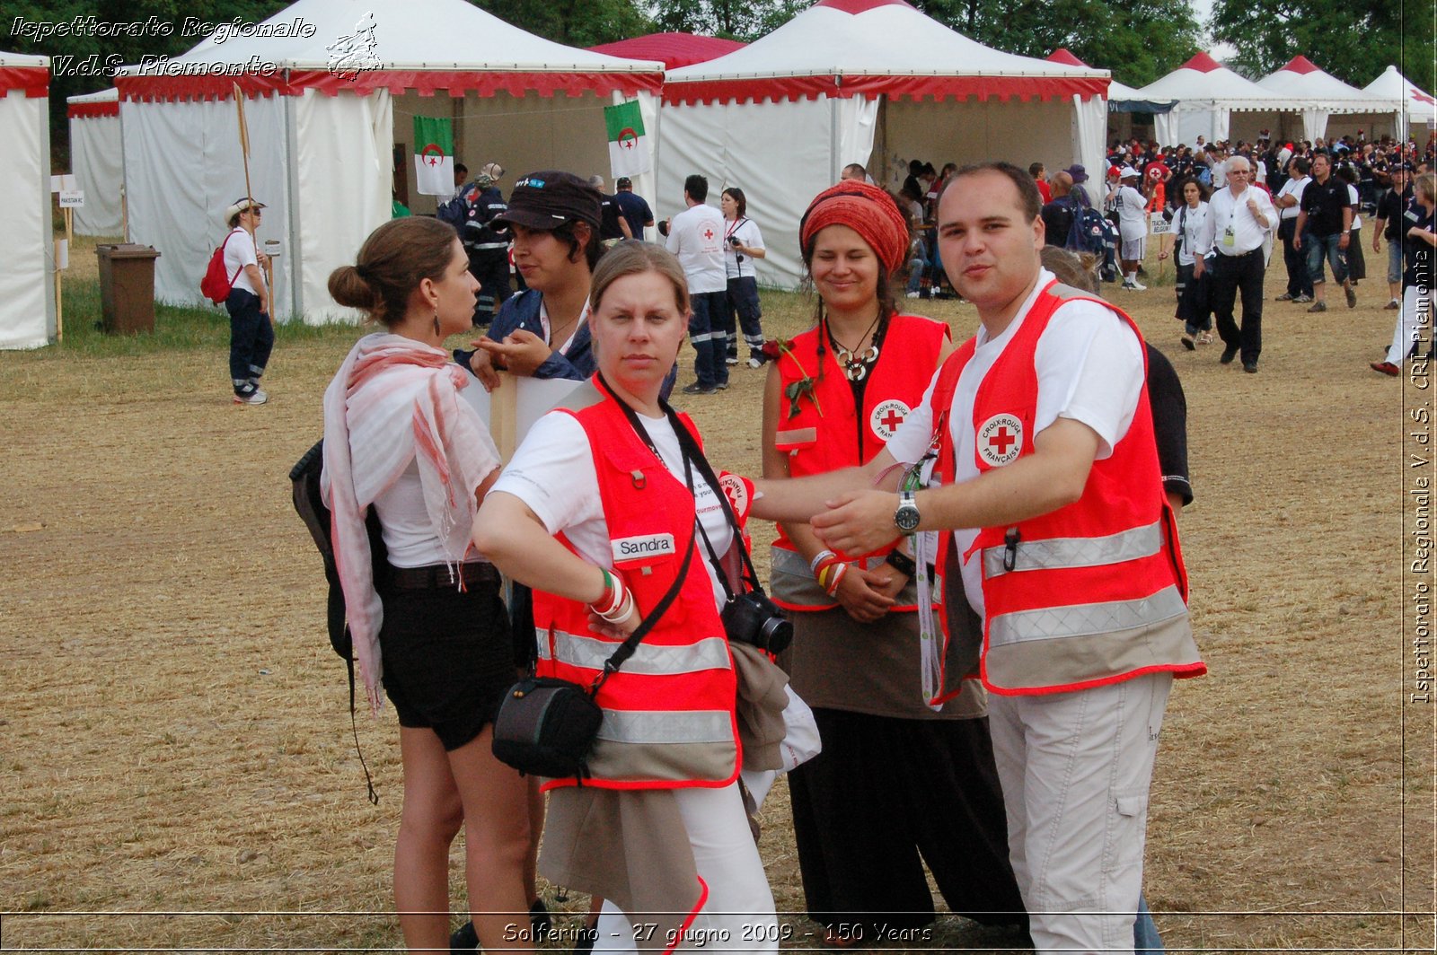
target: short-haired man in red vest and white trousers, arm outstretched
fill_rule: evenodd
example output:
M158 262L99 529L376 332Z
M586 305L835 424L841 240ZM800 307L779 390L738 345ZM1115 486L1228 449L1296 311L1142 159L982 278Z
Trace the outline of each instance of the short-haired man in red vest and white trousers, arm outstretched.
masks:
M977 336L868 465L760 481L753 514L809 518L842 553L937 531L944 649L931 702L960 692L960 678L990 692L1033 944L1131 952L1168 691L1206 666L1142 339L1121 310L1042 269L1039 202L1032 177L1009 164L950 180L938 243L948 279L977 306ZM931 478L901 477L898 462L930 449Z

